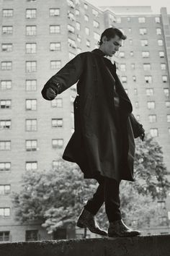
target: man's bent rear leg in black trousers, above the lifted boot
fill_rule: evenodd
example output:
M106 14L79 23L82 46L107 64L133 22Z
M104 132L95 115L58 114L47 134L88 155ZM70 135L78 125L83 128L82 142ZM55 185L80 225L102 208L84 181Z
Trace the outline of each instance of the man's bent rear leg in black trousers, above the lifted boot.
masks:
M97 182L99 183L97 191L94 193L93 197L86 202L86 205L84 205L84 208L93 215L97 214L99 208L101 208L104 203L104 176L99 176Z

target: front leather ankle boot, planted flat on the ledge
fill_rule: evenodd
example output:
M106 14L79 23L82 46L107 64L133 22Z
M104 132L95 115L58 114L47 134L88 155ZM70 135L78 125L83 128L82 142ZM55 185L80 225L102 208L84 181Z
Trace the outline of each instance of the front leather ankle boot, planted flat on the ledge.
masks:
M109 223L108 236L138 236L141 232L128 228L121 220L113 221Z

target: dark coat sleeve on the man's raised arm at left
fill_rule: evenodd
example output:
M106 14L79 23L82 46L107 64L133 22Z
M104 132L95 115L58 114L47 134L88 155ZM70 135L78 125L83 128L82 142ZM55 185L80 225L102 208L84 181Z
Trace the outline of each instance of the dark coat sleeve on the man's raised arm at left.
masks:
M50 77L48 82L42 88L41 94L45 100L49 100L46 96L48 88L52 88L56 95L63 93L64 90L74 85L80 78L84 67L84 53L78 54L71 59L62 69L60 69L53 77Z

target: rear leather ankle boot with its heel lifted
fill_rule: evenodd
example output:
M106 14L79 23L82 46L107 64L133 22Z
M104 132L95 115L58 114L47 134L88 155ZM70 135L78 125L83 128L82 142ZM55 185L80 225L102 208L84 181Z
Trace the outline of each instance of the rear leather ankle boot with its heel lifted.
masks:
M107 236L107 232L100 229L95 216L86 210L81 210L76 226L79 228L88 228L92 233Z

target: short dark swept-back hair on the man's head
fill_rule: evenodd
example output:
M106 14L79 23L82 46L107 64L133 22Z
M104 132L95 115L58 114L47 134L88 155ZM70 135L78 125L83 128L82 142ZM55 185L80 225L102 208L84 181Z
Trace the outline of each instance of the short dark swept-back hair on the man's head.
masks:
M122 31L119 30L118 28L116 28L116 27L109 27L106 30L104 30L104 32L102 33L101 38L100 38L99 42L97 43L97 44L99 44L99 46L101 46L102 43L103 43L102 42L102 37L104 35L106 35L107 40L110 40L111 38L115 38L115 35L118 35L122 40L125 40L127 38L127 36L124 35L122 33Z

